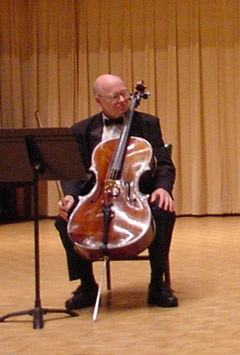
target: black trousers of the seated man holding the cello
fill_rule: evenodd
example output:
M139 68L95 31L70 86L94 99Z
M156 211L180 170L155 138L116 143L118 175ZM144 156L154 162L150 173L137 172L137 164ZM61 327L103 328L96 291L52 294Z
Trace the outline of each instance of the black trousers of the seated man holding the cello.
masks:
M166 261L168 258L172 231L175 224L175 213L169 213L156 206L151 206L152 215L156 224L156 234L149 247L151 266L151 282L162 282ZM92 273L92 262L82 258L74 250L73 244L67 233L67 222L57 217L55 226L59 231L63 246L66 251L67 265L70 280L86 279Z

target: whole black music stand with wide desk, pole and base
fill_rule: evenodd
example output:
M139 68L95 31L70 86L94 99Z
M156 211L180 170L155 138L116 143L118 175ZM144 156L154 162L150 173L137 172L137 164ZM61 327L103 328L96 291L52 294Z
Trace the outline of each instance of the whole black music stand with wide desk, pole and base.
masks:
M0 183L32 182L34 205L35 304L34 308L8 313L0 322L12 316L33 316L33 328L44 326L43 315L67 313L68 309L42 308L40 298L39 260L39 180L86 180L76 138L70 128L2 129L0 130Z

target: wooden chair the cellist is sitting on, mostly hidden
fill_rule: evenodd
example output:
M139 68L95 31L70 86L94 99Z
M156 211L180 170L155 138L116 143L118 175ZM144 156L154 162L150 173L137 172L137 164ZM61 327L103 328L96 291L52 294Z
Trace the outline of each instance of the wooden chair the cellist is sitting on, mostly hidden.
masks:
M165 148L167 149L169 155L172 155L172 145L171 144L165 144ZM147 254L138 254L134 257L127 258L127 259L121 259L121 260L116 260L116 261L125 261L125 260L131 260L131 261L139 261L139 260L149 260L149 255ZM107 289L111 290L111 264L110 262L115 261L115 260L107 260L106 263L106 279L107 279ZM164 271L164 279L171 287L171 278L170 278L170 267L169 267L169 257L166 260L166 270Z

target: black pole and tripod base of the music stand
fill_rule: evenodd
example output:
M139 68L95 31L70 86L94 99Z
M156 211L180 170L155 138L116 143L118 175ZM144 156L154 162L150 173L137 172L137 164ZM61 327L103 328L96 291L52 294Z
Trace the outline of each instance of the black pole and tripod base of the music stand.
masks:
M27 141L27 145L31 150L31 140ZM34 142L33 142L34 143ZM39 257L39 213L38 213L38 174L44 167L41 165L41 159L38 161L38 157L34 156L34 145L33 149L29 153L29 158L32 165L33 171L33 203L34 203L34 252L35 252L35 305L32 309L26 309L19 312L8 313L0 317L0 322L4 322L5 319L28 314L33 316L33 328L41 329L44 326L43 315L47 313L66 313L72 317L78 316L77 313L68 309L50 309L42 308L41 298L40 298L40 257Z

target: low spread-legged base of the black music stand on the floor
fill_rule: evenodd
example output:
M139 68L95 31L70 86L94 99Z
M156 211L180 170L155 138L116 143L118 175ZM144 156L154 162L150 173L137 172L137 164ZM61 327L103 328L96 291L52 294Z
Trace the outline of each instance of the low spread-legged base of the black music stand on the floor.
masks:
M47 313L66 313L69 314L71 317L77 317L78 314L69 310L69 309L49 309L49 308L41 308L35 307L32 309L26 309L24 311L19 312L12 312L5 314L5 316L0 317L0 322L4 322L5 319L15 316L22 316L24 314L28 314L33 316L33 328L34 329L41 329L43 328L43 315Z

